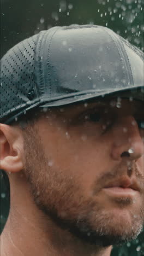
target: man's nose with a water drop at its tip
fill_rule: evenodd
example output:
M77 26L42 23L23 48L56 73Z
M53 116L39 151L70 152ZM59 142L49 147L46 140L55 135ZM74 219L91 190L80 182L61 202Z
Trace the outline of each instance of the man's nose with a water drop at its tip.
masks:
M143 156L143 140L139 127L132 115L119 118L113 126L113 160L128 158L135 160Z

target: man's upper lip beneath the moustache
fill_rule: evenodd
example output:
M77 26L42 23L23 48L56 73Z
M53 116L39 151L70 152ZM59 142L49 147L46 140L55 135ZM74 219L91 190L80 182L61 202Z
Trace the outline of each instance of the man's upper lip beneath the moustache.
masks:
M131 188L133 190L140 191L140 187L137 184L136 180L130 180L127 178L118 179L117 181L111 181L109 184L105 186L105 188L113 188L113 187L120 187L120 188Z

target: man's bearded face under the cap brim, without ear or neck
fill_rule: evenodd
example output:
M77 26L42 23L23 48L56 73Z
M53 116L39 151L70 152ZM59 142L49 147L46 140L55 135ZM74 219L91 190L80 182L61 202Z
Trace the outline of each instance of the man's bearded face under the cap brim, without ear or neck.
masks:
M24 134L24 171L37 206L83 241L135 239L143 227L143 102L107 98L45 110L35 133ZM104 190L125 179L139 185L135 196Z

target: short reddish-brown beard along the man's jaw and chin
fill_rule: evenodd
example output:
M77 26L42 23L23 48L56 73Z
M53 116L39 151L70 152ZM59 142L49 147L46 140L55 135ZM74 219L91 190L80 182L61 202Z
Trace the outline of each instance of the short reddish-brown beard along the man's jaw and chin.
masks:
M137 218L131 212L129 223L126 224L124 215L118 218L92 196L85 198L80 179L70 177L69 167L61 170L55 159L51 162L49 156L46 156L37 129L29 129L23 137L23 171L33 201L45 218L51 219L58 228L67 230L89 245L122 246L125 242L136 239L143 228L142 206ZM126 205L129 200L119 198L119 203Z

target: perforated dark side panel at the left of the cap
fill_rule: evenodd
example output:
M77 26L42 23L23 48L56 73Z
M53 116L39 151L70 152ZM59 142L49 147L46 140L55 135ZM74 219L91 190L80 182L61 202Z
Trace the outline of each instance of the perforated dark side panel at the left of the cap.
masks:
M33 65L37 38L23 40L1 60L1 119L20 112L39 95Z

